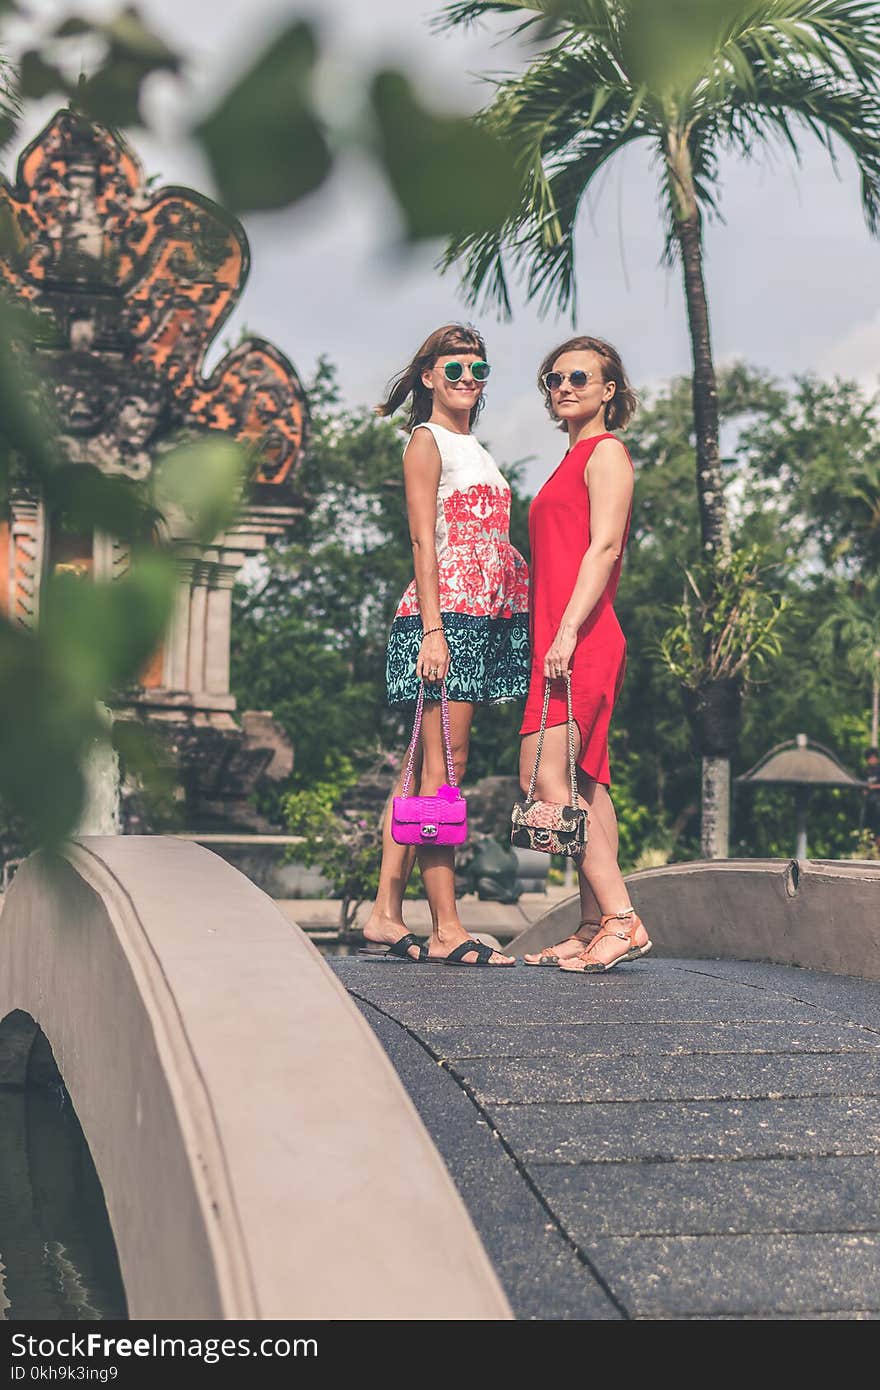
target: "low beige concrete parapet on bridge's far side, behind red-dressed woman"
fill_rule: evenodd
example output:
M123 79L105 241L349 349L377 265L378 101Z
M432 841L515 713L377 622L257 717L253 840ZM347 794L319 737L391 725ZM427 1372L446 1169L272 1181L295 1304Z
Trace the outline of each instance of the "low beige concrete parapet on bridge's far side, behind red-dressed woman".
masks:
M880 863L724 859L645 869L627 878L658 955L772 960L880 980ZM574 931L580 902L551 908L509 951Z

